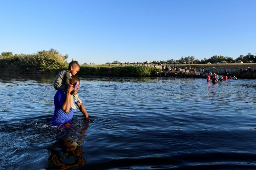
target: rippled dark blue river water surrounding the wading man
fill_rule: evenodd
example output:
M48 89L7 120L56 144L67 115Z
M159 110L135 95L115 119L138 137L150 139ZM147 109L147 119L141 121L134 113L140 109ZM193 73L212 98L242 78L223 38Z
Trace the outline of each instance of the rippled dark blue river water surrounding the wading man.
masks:
M54 127L54 78L0 75L0 169L256 169L256 80L80 77Z

